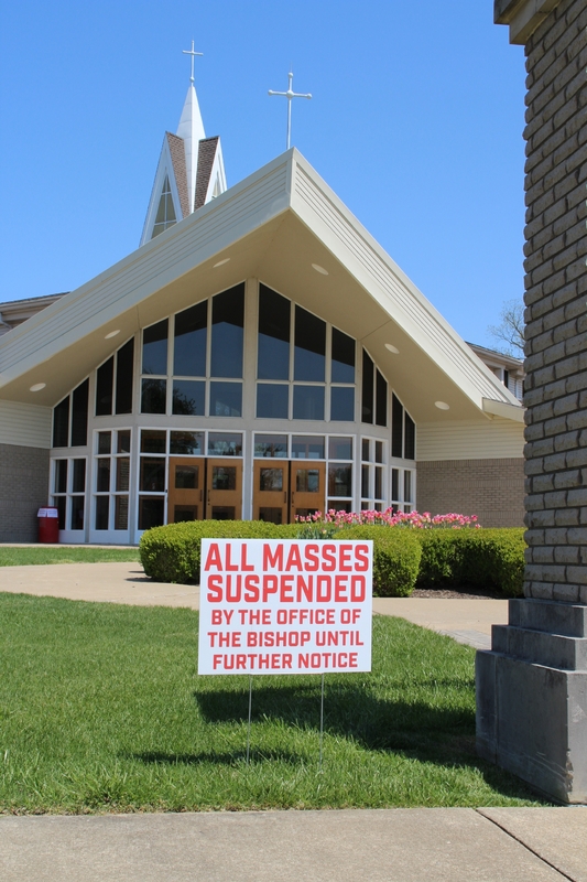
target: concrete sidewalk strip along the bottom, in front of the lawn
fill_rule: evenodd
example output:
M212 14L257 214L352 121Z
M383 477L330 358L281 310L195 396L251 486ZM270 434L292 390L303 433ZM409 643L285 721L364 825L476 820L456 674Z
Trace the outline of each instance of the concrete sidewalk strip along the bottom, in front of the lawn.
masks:
M3 882L587 882L587 809L0 818Z

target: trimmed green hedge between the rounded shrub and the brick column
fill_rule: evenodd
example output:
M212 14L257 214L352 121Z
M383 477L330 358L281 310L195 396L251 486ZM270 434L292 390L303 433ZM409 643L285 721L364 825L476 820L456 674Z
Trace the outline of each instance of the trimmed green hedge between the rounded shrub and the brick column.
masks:
M523 528L415 534L422 545L417 584L494 588L509 598L523 595Z

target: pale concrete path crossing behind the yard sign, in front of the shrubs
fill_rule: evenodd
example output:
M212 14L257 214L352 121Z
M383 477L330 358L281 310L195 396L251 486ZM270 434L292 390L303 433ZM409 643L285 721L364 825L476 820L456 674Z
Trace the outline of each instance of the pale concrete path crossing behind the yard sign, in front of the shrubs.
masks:
M0 591L129 603L137 606L199 607L199 588L152 582L140 563L52 563L0 568ZM476 649L488 649L492 624L508 621L506 600L376 598L373 611L398 615L447 634Z

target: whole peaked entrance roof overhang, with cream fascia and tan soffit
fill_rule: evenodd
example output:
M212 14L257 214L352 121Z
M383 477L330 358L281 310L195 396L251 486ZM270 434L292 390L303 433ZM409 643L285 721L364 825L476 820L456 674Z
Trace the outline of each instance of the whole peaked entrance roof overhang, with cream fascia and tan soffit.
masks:
M6 334L0 398L54 405L139 329L253 277L358 338L416 421L522 413L295 149Z

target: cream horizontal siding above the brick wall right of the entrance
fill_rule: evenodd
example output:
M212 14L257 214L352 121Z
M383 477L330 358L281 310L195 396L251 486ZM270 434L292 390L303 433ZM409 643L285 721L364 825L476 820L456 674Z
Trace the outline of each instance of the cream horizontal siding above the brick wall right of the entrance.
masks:
M487 422L418 423L416 460L502 460L524 455L524 427L496 417Z

